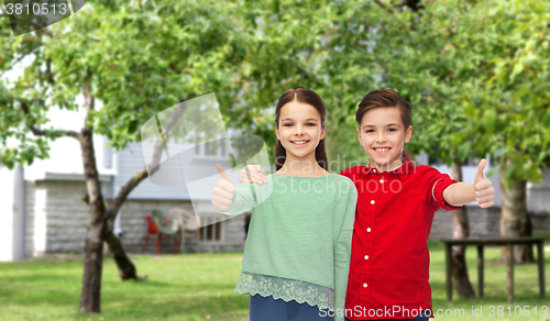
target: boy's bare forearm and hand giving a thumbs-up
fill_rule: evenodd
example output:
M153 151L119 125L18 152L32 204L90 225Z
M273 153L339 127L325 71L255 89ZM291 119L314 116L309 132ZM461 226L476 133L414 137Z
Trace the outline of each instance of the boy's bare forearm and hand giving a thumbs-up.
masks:
M443 190L443 199L450 206L459 207L463 204L477 201L481 208L488 208L493 206L495 198L495 189L493 182L483 177L483 169L485 168L486 159L482 159L477 166L474 184L455 182L449 185Z

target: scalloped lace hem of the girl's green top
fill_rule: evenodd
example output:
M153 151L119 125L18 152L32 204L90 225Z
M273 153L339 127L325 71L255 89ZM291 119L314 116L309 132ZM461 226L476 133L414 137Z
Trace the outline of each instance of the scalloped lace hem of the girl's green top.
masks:
M311 307L331 310L334 308L334 291L331 288L276 276L241 272L234 291L241 295L273 296L274 299L286 302L296 300L298 303L307 302Z

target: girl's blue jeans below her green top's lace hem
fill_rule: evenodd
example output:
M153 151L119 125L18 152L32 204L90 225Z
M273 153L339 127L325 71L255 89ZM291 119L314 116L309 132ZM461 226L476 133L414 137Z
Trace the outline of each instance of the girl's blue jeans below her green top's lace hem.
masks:
M321 317L322 316L322 317ZM298 303L295 300L286 302L282 299L274 299L273 296L262 297L261 295L250 296L250 321L332 321L328 317L328 310L320 310L319 307L311 307L308 303Z

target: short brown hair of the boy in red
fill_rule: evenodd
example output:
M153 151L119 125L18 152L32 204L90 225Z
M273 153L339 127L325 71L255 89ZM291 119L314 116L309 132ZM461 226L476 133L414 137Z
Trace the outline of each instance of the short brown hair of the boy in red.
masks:
M358 106L358 112L355 113L355 121L358 122L358 128L361 128L361 121L363 120L363 115L374 108L388 108L396 107L399 109L399 113L402 114L402 121L405 125L405 130L407 130L410 125L410 112L413 107L406 100L404 100L397 91L392 89L378 89L369 92L363 100Z

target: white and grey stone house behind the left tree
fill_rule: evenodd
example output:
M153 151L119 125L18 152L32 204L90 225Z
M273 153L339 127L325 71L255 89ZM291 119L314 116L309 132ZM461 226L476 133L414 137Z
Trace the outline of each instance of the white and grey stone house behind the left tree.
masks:
M107 146L105 137L95 137L99 179L107 202L111 202L121 187L144 167L142 146L133 143L120 153ZM229 148L228 148L229 150ZM194 148L197 162L194 168L216 168L223 164L227 153ZM51 158L9 170L0 164L0 261L15 261L45 253L81 253L85 244L88 207L81 201L86 186L78 143L63 137L52 145ZM211 169L210 168L210 169ZM215 169L216 170L216 169ZM238 181L238 177L234 178ZM198 206L197 206L198 204ZM227 218L211 204L210 196L191 204L185 186L157 186L144 179L121 207L114 233L121 237L129 253L139 253L147 233L144 215L152 209L168 214L180 208L195 213L201 222L198 235L186 233L186 252L242 251L245 240L246 215ZM220 218L222 217L222 218ZM249 215L250 218L250 215ZM209 224L211 222L215 224ZM208 225L207 225L208 224ZM198 240L198 241L197 241ZM154 239L153 239L154 241ZM199 244L197 244L197 242ZM163 253L173 251L173 243L163 239ZM199 245L199 246L197 246ZM154 252L150 242L147 253Z

